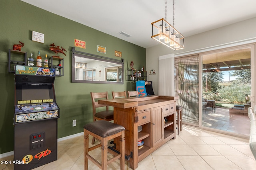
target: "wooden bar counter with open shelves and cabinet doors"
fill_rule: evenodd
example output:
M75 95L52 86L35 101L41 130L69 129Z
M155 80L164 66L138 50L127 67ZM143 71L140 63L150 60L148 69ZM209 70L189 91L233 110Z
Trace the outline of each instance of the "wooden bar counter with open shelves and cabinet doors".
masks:
M114 123L125 127L125 154L128 166L135 170L138 162L170 139L176 138L176 101L174 96L140 96L98 100L114 107ZM138 133L138 126L142 130ZM118 139L114 139L119 150ZM144 143L138 149L138 141Z

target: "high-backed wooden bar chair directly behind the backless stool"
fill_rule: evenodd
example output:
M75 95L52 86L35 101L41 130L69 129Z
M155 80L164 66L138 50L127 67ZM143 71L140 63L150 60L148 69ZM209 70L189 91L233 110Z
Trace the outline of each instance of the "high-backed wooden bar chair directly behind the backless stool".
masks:
M96 120L105 120L105 121L112 121L114 120L114 111L108 110L108 106L98 104L97 99L108 99L108 92L91 92L92 97L92 112L93 112L93 121ZM98 107L106 107L106 110L96 112L96 108ZM95 142L95 138L92 138L92 145Z

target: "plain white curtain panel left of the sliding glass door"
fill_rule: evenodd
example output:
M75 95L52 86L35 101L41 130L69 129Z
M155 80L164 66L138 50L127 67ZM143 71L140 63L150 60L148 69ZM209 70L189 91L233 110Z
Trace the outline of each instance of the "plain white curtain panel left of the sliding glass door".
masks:
M158 59L158 95L174 96L174 54L162 55Z

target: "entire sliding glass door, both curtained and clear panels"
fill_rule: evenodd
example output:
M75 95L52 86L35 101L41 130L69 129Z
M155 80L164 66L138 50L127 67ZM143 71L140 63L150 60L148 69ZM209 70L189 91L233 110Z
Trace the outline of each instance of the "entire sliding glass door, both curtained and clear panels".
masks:
M255 104L255 57L252 44L175 58L182 123L248 136L247 111Z

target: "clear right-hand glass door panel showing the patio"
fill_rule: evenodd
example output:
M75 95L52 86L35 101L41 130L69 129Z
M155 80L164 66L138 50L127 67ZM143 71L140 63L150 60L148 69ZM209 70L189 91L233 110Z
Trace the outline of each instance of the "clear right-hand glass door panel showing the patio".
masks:
M250 134L252 56L251 47L202 55L202 127Z

